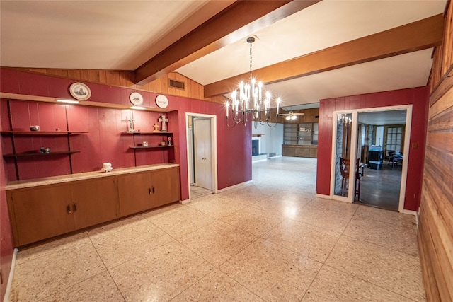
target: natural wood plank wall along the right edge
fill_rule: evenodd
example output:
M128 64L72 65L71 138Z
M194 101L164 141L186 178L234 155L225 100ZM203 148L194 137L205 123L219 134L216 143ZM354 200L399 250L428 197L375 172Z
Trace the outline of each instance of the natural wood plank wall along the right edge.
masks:
M418 243L428 301L453 301L453 8L435 49Z

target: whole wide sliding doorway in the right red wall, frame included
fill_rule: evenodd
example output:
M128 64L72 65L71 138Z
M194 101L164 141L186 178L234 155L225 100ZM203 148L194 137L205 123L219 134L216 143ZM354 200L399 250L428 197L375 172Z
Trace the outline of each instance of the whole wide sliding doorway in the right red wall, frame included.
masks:
M412 106L334 112L331 197L402 212Z

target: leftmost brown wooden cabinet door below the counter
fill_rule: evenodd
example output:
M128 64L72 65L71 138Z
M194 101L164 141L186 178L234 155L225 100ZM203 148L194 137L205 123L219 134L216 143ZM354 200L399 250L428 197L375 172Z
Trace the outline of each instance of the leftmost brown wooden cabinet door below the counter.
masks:
M16 245L74 231L69 185L12 192L11 203L16 224Z

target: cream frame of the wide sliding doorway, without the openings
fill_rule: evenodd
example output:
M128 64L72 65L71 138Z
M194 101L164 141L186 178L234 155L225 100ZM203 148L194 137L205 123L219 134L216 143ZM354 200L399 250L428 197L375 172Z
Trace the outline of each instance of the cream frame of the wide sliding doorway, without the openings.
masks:
M406 110L406 129L404 132L405 141L411 140L411 125L412 125L412 105L396 105L396 106L386 106L386 107L377 107L377 108L361 108L361 109L350 109L350 110L336 110L333 112L333 120L336 121L337 114L341 113L352 113L352 131L351 133L351 158L357 158L357 132L358 132L358 115L359 113L364 112L379 112L379 111L394 111L394 110ZM353 189L355 185L355 161L350 161L350 175L349 175L349 185L348 185L348 197L336 196L334 193L335 190L335 169L336 169L336 133L337 133L337 123L333 122L333 132L332 132L332 155L331 155L331 192L330 197L331 199L339 200L341 202L354 202L354 192ZM383 142L384 144L384 142ZM410 153L410 146L409 144L404 144L403 154L404 157L407 158L406 161L403 161L403 168L401 170L401 186L399 191L399 203L398 203L398 211L400 213L405 212L404 210L404 197L406 195L406 183L408 177L408 160L409 160L409 153Z

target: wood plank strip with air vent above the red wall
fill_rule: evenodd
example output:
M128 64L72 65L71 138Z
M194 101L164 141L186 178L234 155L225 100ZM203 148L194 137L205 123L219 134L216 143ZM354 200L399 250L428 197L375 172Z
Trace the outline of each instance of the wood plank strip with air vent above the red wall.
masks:
M59 76L65 79L74 79L76 81L88 81L101 83L110 86L120 86L126 88L152 91L165 95L183 96L186 98L195 98L197 100L208 100L219 102L219 98L205 98L204 87L185 76L172 72L166 74L155 81L140 86L134 84L134 71L111 71L95 69L39 69L39 68L15 68L21 71L33 72L38 74L49 74ZM184 89L173 88L169 86L170 80L176 80L184 83Z

